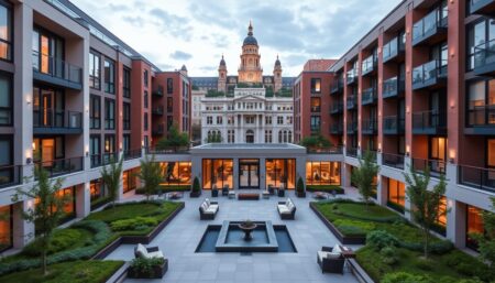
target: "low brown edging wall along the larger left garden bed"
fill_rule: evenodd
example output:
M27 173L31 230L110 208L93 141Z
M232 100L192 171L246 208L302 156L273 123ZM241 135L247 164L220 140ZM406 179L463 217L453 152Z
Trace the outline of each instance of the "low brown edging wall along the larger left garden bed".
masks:
M108 244L107 247L98 251L95 255L92 255L91 260L102 260L107 258L107 255L112 253L122 243L148 244L165 228L165 226L167 226L178 215L178 213L180 213L180 210L184 209L184 207L186 207L186 205L184 203L180 203L180 206L178 206L174 213L172 213L167 218L165 218L162 222L160 222L158 226L156 226L155 229L153 229L146 236L122 236L117 238L110 244Z

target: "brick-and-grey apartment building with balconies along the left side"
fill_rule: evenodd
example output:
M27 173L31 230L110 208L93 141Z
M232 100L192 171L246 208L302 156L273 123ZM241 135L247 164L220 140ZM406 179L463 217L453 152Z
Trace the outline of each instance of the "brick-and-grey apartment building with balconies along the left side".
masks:
M105 197L101 166L124 159L120 195L138 186L135 170L153 143L153 104L172 99L172 115L189 132L187 70L164 73L66 0L0 1L0 250L29 242L33 224L12 203L30 187L34 166L63 177L73 202L67 219L84 217ZM156 85L155 85L156 83ZM168 91L168 89L167 89ZM166 99L166 100L165 100ZM168 110L168 109L167 109ZM180 119L179 119L180 118ZM158 123L160 124L160 123Z

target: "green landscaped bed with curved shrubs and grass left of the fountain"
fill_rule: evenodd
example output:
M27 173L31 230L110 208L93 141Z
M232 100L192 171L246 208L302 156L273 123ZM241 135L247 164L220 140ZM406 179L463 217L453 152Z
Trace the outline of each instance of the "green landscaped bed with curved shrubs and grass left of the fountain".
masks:
M88 260L108 250L121 237L146 237L164 227L183 203L141 202L119 204L94 213L68 228L55 230L48 250L48 264ZM0 260L0 274L40 266L40 249L34 241L19 254Z

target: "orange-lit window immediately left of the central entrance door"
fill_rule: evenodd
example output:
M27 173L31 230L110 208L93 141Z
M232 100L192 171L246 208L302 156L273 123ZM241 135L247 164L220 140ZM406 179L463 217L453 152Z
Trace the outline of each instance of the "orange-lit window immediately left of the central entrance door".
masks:
M233 160L202 160L202 188L233 188Z

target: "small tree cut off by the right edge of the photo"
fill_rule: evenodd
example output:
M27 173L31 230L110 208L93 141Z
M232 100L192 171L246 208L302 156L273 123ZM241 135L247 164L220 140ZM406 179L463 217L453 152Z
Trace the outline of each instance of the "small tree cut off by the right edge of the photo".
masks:
M495 197L492 197L492 208L495 209ZM495 266L495 213L483 211L484 235L477 235L481 257Z

